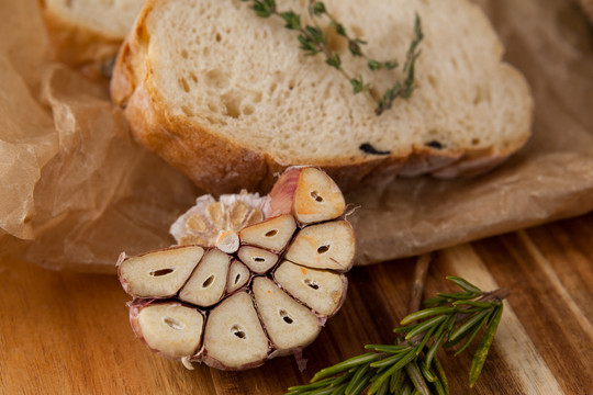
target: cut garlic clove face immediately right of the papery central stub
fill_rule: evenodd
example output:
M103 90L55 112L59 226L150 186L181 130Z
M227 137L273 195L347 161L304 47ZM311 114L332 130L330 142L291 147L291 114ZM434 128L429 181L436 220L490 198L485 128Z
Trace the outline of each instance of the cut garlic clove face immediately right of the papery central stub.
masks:
M239 238L242 244L279 252L288 245L295 229L294 217L284 214L244 228L239 232Z

